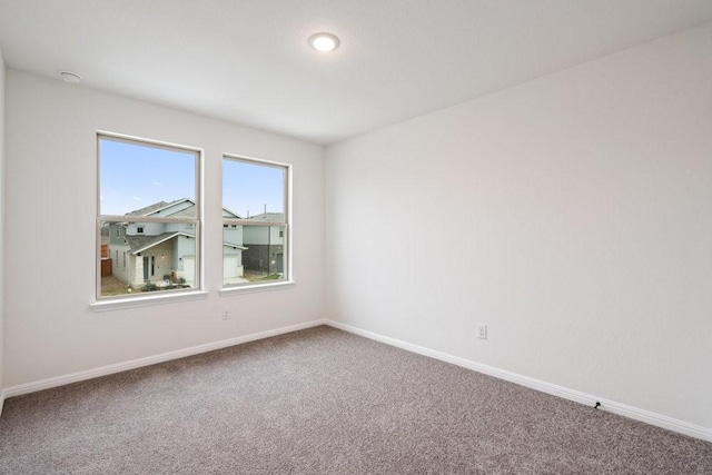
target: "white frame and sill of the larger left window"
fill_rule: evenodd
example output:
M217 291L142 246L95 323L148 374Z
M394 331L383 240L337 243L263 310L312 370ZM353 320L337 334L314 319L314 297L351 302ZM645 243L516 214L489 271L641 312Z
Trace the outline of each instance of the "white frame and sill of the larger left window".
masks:
M119 141L140 147L154 147L170 151L180 151L195 155L195 217L141 217L141 216L116 216L116 215L101 215L101 140ZM207 291L204 290L204 273L202 273L202 256L205 255L202 248L202 162L204 150L197 147L189 147L185 145L170 144L159 140L146 139L140 137L126 136L115 132L97 131L97 249L96 260L96 293L95 303L90 305L95 311L111 310L119 308L130 308L136 306L155 305L160 303L176 301L176 300L192 300L196 298L205 298ZM196 251L195 251L195 285L192 288L186 289L172 289L161 291L149 293L134 293L121 296L101 296L101 224L111 222L166 222L166 224L184 224L185 226L192 225L195 230ZM117 263L118 264L118 263Z

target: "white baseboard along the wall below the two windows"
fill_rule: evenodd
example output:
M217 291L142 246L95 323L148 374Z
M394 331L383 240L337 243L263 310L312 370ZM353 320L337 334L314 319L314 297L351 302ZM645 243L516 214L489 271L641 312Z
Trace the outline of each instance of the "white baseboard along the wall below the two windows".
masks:
M220 342L208 343L205 345L192 346L190 348L177 349L175 352L161 353L159 355L148 356L145 358L132 359L130 362L117 363L113 365L102 366L95 369L87 369L83 372L71 373L63 376L56 376L38 382L20 384L17 386L10 386L2 393L2 399L6 397L20 396L22 394L34 393L42 389L49 389L51 387L63 386L70 383L77 383L86 379L92 379L100 376L107 376L115 373L126 372L128 369L140 368L142 366L155 365L157 363L164 363L171 359L185 358L186 356L198 355L200 353L212 352L215 349L226 348L228 346L240 345L243 343L255 342L258 339L269 338L271 336L284 335L291 331L303 330L306 328L316 327L319 325L326 325L326 320L312 320L304 324L291 325L288 327L275 328L273 330L260 331L251 335L238 336L235 338L224 339Z

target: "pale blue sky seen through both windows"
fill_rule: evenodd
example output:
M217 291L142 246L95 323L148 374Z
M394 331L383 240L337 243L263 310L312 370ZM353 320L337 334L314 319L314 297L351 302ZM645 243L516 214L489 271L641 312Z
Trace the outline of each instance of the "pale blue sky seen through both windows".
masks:
M195 155L100 141L101 215L125 215L158 201L195 200ZM284 169L224 160L224 206L246 217L284 212ZM210 186L210 185L207 185Z

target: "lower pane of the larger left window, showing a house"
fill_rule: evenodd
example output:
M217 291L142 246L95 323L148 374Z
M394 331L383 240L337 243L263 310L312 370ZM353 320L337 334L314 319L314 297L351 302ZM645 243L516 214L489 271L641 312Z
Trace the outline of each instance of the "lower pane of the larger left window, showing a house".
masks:
M197 281L195 232L182 224L101 221L102 248L111 258L101 259L101 297L142 291L192 288ZM105 236L109 237L105 243ZM119 253L123 265L118 266Z

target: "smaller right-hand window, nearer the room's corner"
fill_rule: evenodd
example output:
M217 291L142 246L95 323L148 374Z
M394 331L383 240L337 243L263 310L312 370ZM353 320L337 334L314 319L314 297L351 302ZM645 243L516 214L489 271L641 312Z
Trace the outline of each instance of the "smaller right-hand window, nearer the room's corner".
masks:
M222 286L290 279L290 166L222 158Z

